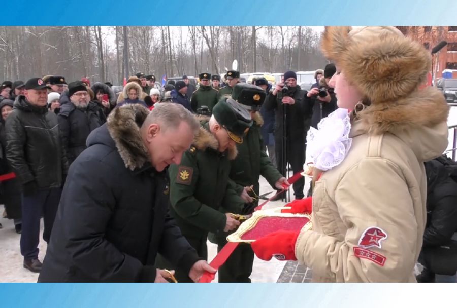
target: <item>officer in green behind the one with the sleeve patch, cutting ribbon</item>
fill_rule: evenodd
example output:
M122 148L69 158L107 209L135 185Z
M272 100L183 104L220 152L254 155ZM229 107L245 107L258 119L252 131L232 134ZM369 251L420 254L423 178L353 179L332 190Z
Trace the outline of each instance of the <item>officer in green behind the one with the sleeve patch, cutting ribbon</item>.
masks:
M258 112L265 101L267 93L260 87L250 84L235 85L232 98L243 106L251 115L252 127L244 137L243 143L237 144L238 155L231 162L230 179L234 182L235 190L242 196L246 205L242 213L250 214L258 199L251 196L259 195L259 176L262 175L274 189L282 189L289 183L270 161L267 153L263 150L262 134L260 126L263 124L262 117ZM228 234L216 235L217 250L220 251L227 243ZM211 237L212 238L212 237ZM252 272L254 252L249 244L240 244L219 268L219 282L251 282L249 276Z

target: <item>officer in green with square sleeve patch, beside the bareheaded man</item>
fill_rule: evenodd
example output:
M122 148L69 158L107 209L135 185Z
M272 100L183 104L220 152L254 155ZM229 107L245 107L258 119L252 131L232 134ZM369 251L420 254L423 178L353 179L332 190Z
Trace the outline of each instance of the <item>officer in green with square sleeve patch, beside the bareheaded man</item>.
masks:
M223 233L238 227L231 213L239 213L244 200L229 181L231 161L237 156L237 143L252 125L249 112L231 98L221 99L211 118L201 118L201 128L179 165L171 165L170 213L183 236L207 259L208 232ZM170 268L163 257L158 268ZM176 270L178 282L191 282L187 274Z

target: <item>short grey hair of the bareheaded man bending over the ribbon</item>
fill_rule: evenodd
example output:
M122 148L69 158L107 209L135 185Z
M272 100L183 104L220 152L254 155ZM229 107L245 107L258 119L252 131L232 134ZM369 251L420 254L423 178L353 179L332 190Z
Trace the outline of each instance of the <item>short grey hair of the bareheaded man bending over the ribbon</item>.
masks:
M194 135L199 132L199 121L195 118L195 115L182 105L176 103L157 103L154 105L154 109L148 114L143 127L157 123L160 124L163 130L177 129L183 121L189 125Z

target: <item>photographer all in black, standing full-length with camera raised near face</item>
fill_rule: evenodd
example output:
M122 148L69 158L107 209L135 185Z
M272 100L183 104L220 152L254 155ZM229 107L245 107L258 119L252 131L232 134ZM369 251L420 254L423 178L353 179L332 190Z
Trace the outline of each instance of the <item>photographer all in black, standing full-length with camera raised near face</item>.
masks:
M293 173L300 172L305 155L305 119L304 99L306 91L297 86L297 74L293 71L284 73L284 79L278 83L265 101L265 110L275 110L275 147L279 173L287 174L287 163ZM301 177L293 183L295 199L302 199L305 180ZM281 198L281 195L279 195ZM278 199L279 199L278 198Z

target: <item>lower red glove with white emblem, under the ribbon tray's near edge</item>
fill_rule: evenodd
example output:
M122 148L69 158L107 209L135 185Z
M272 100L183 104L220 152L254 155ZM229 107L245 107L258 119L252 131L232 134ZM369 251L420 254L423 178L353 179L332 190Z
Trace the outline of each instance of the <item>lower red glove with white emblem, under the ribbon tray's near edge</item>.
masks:
M251 243L255 255L269 261L272 257L278 260L297 260L295 243L300 231L276 231Z

